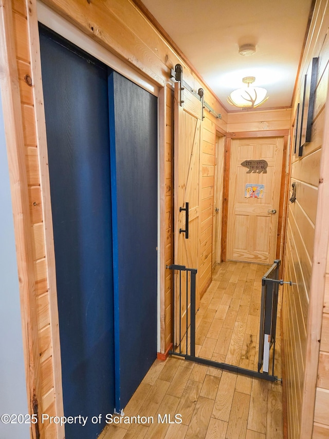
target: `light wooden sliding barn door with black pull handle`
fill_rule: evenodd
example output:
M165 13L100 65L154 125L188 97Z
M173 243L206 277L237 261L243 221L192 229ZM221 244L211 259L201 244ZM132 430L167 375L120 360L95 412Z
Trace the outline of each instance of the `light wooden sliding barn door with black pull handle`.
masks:
M184 90L184 103L180 105L179 83L175 83L175 169L174 169L174 230L175 264L188 268L198 268L199 256L199 215L200 215L200 143L201 143L202 103ZM188 223L186 222L186 203L189 203ZM188 236L185 232L188 227ZM178 343L180 323L181 337L187 327L187 313L190 296L182 294L179 302L179 279L175 279L175 342ZM186 285L185 273L182 273L182 285ZM198 274L196 277L196 309L199 305ZM189 323L188 323L189 324Z

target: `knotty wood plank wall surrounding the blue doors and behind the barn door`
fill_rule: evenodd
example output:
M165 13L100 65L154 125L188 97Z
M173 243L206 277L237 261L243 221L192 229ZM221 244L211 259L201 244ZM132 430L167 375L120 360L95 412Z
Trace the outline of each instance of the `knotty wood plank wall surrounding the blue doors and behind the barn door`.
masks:
M62 415L62 399L60 389L60 346L58 333L58 315L56 303L56 283L54 284L54 258L50 204L49 181L47 169L47 147L45 138L44 115L40 110L43 97L40 52L38 43L38 25L36 17L36 0L6 0L6 6L11 5L13 26L13 43L17 60L17 83L19 83L22 109L22 133L24 133L25 171L27 173L27 192L31 227L27 233L32 245L33 276L30 283L35 283L36 315L28 321L29 325L37 328L34 345L38 346L36 357L40 358L41 371L36 375L40 380L40 409L49 415ZM170 80L170 69L176 63L184 68L184 79L198 90L203 87L205 100L215 110L222 114L222 119L215 118L205 111L202 150L202 251L199 260L199 276L201 287L206 289L211 280L211 235L214 185L214 154L216 130L226 132L227 114L221 103L207 89L202 80L191 71L165 41L154 26L144 17L136 5L130 0L111 0L106 2L80 2L74 0L68 5L62 0L46 0L45 2L83 30L89 37L98 41L109 51L138 69L149 80L165 87L161 99L165 104L160 110L160 148L163 170L163 181L160 182L160 199L165 200L165 212L160 218L166 233L162 233L160 247L162 251L161 264L173 262L173 83ZM10 8L9 8L10 10ZM28 13L27 13L28 11ZM34 39L34 40L33 40ZM33 79L29 86L25 76ZM160 171L161 174L161 171ZM163 218L164 217L164 218ZM50 219L50 223L49 223ZM49 250L50 249L50 250ZM21 243L17 242L17 252L21 252ZM160 271L161 290L161 352L165 352L171 341L171 272ZM24 290L23 293L27 294ZM27 316L27 318L30 318ZM27 377L28 384L30 377ZM32 383L33 384L33 383ZM31 401L31 411L32 401ZM63 438L63 428L55 424L43 424L40 428L41 438Z

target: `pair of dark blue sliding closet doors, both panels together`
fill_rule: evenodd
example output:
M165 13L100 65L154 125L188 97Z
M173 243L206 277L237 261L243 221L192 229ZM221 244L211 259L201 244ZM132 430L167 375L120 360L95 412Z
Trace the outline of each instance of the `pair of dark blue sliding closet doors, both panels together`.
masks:
M64 415L87 417L65 432L93 439L156 358L157 98L42 25L40 45Z

